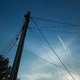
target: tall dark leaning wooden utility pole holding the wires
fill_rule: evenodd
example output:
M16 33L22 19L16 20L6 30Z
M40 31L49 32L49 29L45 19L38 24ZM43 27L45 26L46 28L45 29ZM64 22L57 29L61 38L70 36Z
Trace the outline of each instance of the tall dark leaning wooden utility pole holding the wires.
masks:
M25 22L24 22L24 25L22 27L22 34L21 34L20 41L18 44L16 56L14 59L10 80L17 80L18 68L19 68L19 64L20 64L24 40L25 40L26 31L28 28L28 23L29 23L29 18L30 18L30 11L24 17L25 17Z

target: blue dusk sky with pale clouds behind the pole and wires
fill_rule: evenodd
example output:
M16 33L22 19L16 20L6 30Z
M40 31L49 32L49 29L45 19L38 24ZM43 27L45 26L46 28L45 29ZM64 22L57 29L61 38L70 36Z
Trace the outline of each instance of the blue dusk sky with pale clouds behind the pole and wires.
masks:
M53 21L33 18L74 79L80 80L80 0L0 0L0 54L3 54L4 48L21 30L24 15L28 11L31 12L30 17ZM18 78L20 80L74 80L50 49L32 19L29 27ZM16 45L18 42L19 40ZM6 55L11 66L16 50L17 47L14 45Z

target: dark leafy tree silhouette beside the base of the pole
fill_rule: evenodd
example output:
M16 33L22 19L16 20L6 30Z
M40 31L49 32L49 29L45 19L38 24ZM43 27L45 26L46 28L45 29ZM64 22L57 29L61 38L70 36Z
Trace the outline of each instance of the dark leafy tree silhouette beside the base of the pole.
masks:
M9 66L9 59L0 55L0 80L8 80L11 73L11 66Z

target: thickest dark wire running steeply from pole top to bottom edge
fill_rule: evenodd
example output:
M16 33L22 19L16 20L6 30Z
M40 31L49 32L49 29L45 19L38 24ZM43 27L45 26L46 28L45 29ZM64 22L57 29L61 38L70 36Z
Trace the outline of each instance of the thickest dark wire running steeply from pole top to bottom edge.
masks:
M32 18L31 18L32 19ZM33 20L33 19L32 19ZM41 30L39 29L38 25L35 23L35 21L33 20L34 24L36 25L36 27L38 28L38 30L40 31L41 35L44 37L45 41L47 42L47 44L49 45L49 47L51 48L51 50L55 53L55 55L57 56L57 58L59 59L59 61L62 63L62 65L64 66L64 68L66 69L66 71L71 75L71 77L73 78L73 80L75 80L75 78L73 77L73 75L69 72L69 70L66 68L66 66L64 65L64 63L61 61L61 59L59 58L59 56L57 55L57 53L53 50L53 48L51 47L51 45L49 44L49 42L47 41L47 39L45 38L45 36L43 35L43 33L41 32Z

